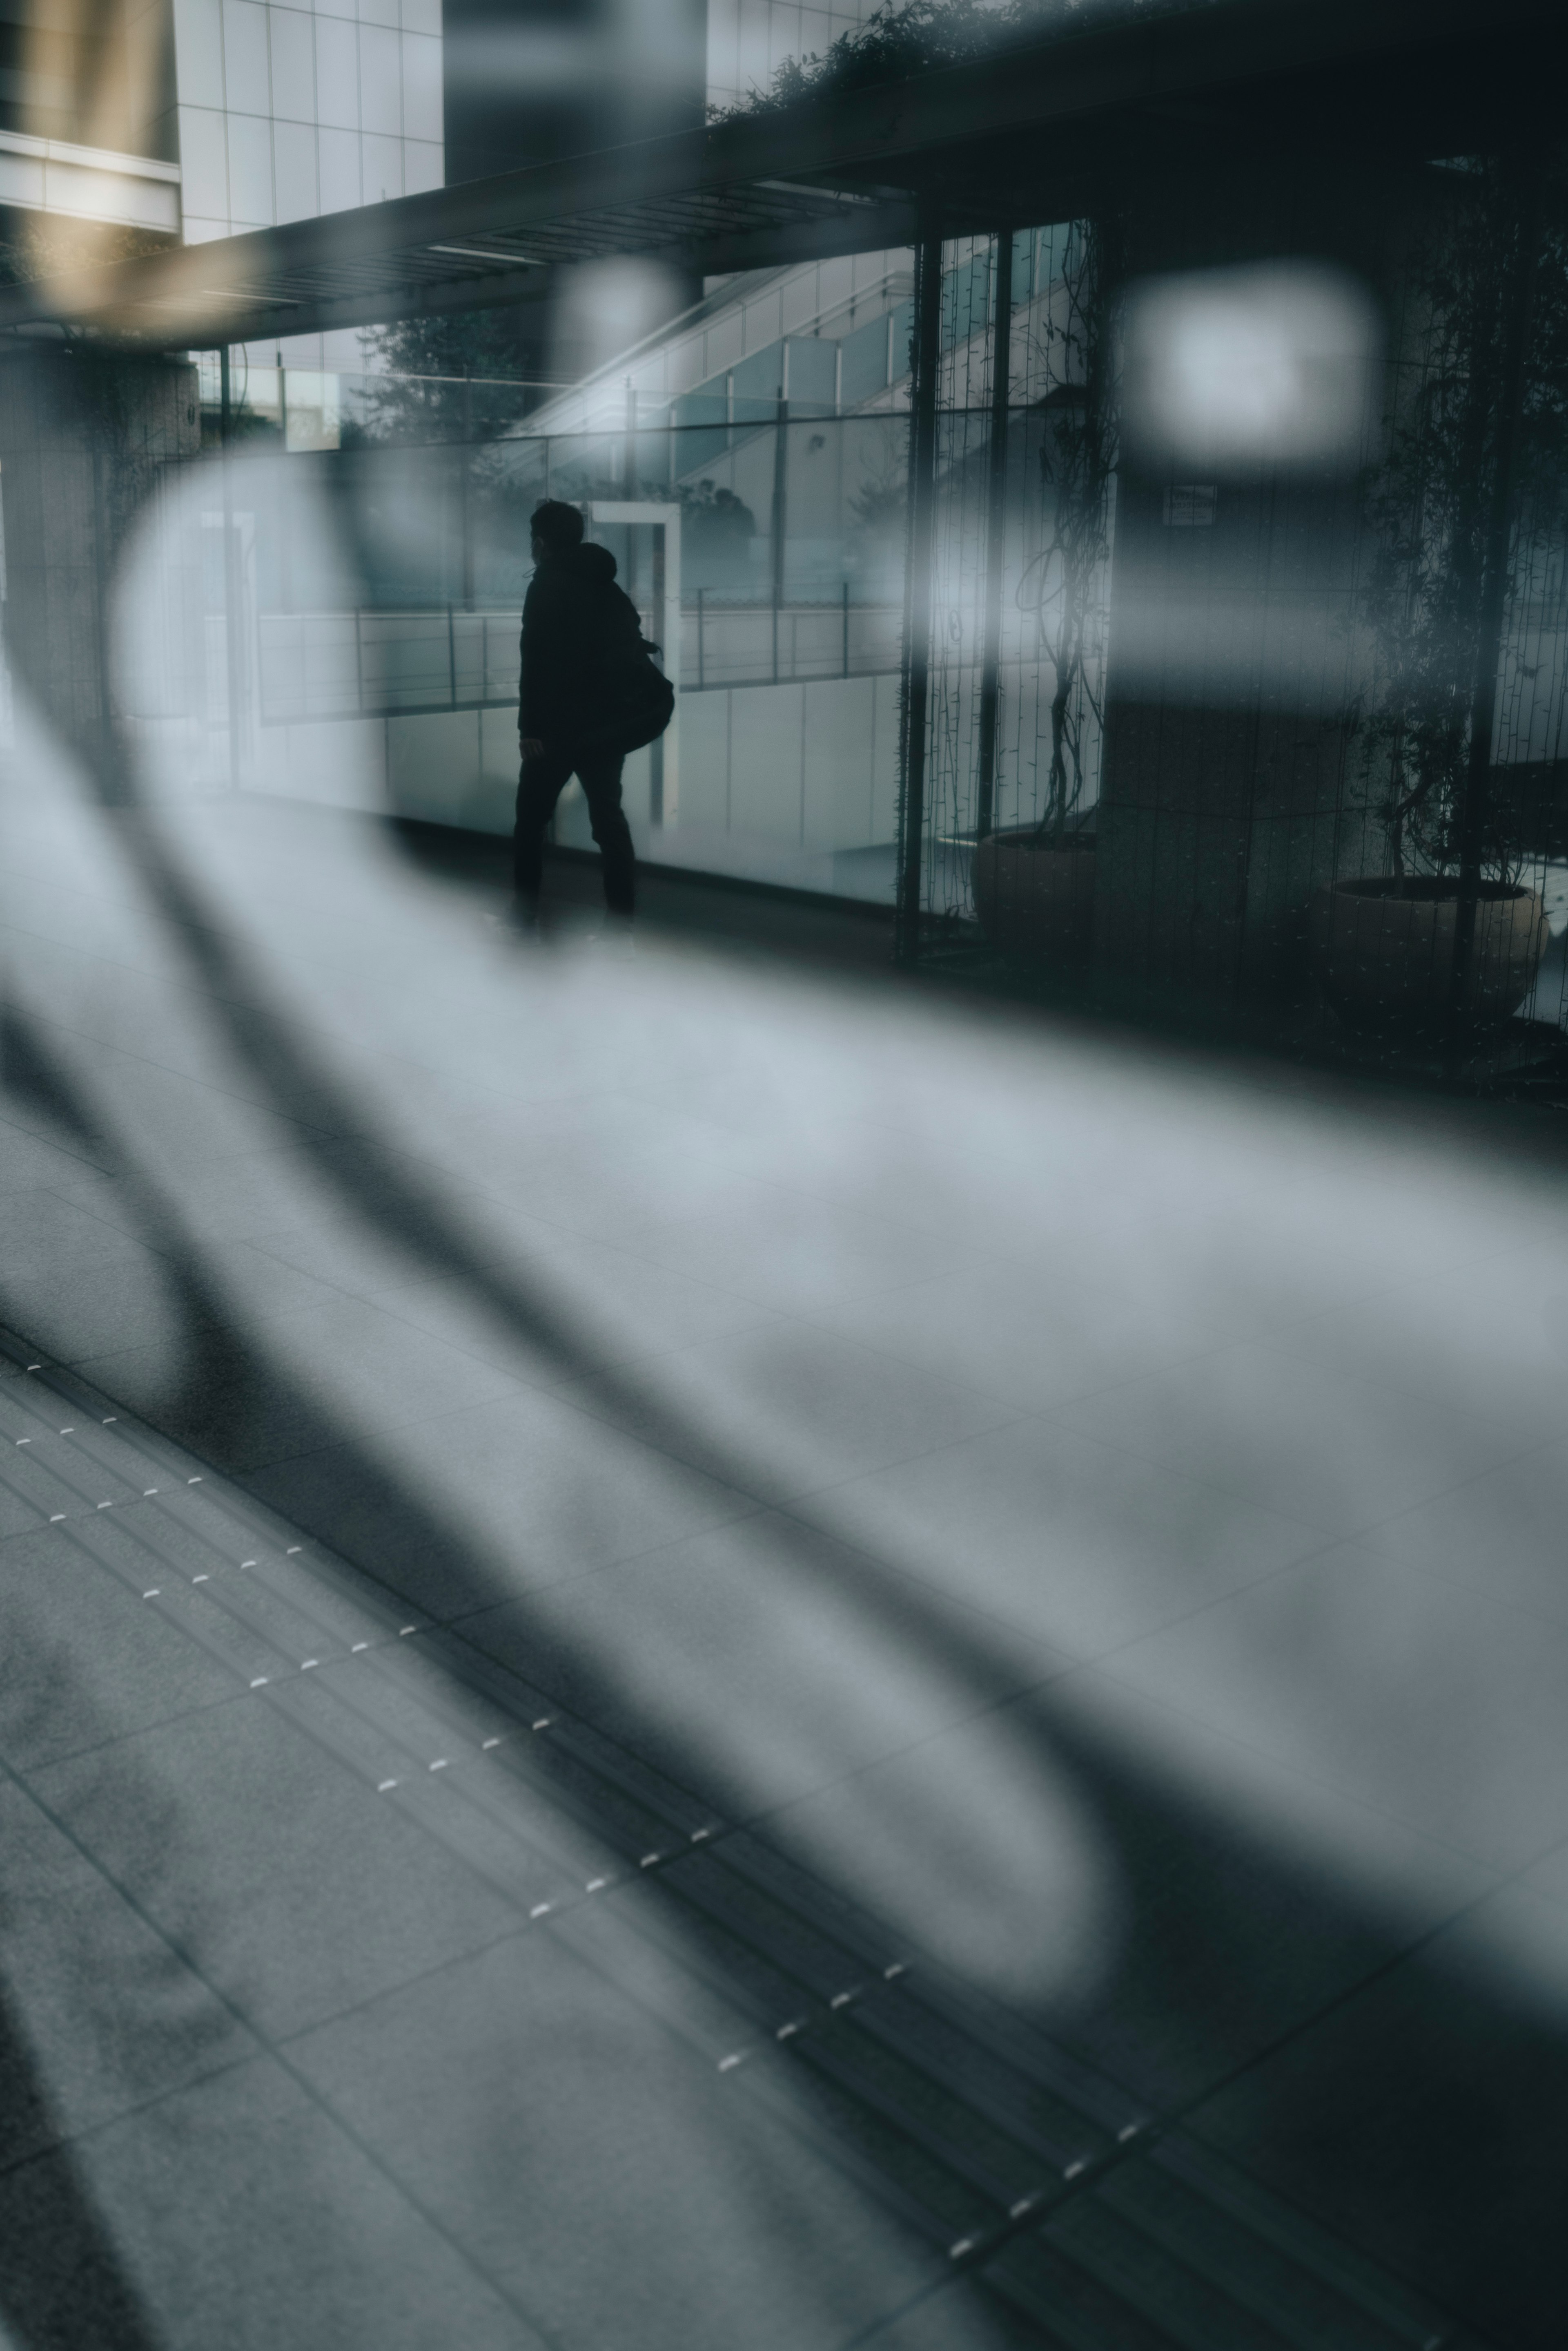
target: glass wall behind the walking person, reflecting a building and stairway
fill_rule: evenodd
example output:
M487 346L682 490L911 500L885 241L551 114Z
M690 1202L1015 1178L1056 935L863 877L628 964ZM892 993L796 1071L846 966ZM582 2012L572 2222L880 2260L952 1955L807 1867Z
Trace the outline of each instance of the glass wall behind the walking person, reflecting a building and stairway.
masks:
M1039 402L1060 364L1048 357L1048 322L1067 252L1051 230L1011 242L1013 404L1027 414L1013 435L999 820L1039 806L1051 755ZM992 242L959 240L940 336L952 414L943 470L954 510L971 517L940 550L954 661L973 661L992 294ZM360 773L374 771L376 792L404 813L505 830L524 517L541 496L574 498L595 510L597 536L679 679L679 788L661 792L649 755L628 762L639 851L884 898L898 799L907 362L907 254L755 270L715 282L663 334L482 451L378 447L329 458L357 515L364 609L327 625L282 592L282 564L261 581L261 741L282 745L268 762L292 790L336 797L353 741ZM604 520L604 505L628 496L679 513L679 635L656 611L656 534ZM282 515L270 517L263 541L280 529ZM1098 661L1084 677L1091 701ZM964 672L943 703L950 783L973 724ZM1100 771L1091 708L1079 750L1079 806L1088 806ZM954 802L947 830L971 820ZM559 837L585 844L581 802L564 802Z

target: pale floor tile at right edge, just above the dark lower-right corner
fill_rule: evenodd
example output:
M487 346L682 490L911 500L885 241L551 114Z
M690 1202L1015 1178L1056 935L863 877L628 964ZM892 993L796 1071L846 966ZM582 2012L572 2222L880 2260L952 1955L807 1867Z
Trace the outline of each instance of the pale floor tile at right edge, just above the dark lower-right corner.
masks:
M1483 1867L1568 1836L1568 1627L1380 1552L1342 1545L1105 1669Z

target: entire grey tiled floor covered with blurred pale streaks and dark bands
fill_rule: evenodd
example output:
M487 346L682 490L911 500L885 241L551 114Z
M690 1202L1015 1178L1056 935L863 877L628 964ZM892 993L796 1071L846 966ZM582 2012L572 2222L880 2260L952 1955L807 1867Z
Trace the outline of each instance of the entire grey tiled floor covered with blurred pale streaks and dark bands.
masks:
M1559 2351L1528 1121L9 795L5 2351Z

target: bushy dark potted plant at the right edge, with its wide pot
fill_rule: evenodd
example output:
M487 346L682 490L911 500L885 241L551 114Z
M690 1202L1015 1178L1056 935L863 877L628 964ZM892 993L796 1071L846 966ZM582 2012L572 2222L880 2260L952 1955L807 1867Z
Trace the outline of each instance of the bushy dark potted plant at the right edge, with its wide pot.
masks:
M1324 992L1352 1027L1488 1027L1535 985L1544 907L1488 785L1497 675L1523 658L1507 616L1542 550L1561 560L1563 390L1540 355L1568 322L1563 256L1540 190L1476 165L1446 176L1408 277L1415 357L1394 369L1371 477L1354 719L1382 870L1333 882L1309 915Z

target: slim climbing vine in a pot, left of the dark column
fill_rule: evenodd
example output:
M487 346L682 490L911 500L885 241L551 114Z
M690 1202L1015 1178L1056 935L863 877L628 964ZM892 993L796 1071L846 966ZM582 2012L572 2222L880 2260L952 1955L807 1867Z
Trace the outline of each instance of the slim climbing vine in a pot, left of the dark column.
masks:
M973 853L985 936L1009 955L1060 969L1084 966L1093 947L1095 825L1084 788L1103 724L1117 280L1114 221L1072 223L1046 329L1046 364L1058 381L1039 404L1046 531L1016 597L1034 616L1041 670L1051 677L1046 799L1039 818L983 835Z

